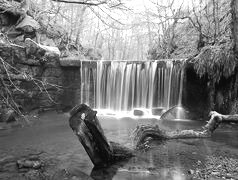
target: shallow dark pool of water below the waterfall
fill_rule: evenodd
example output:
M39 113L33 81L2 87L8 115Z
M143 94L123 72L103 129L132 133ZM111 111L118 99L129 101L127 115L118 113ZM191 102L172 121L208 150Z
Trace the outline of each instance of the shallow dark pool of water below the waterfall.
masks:
M47 113L32 118L31 126L0 131L0 163L6 157L15 159L40 153L45 171L53 175L66 169L78 179L91 177L106 180L190 179L188 171L206 164L207 156L238 158L238 126L222 125L212 138L181 139L153 142L151 149L138 151L136 156L104 169L95 169L68 125L68 115ZM131 119L99 117L105 135L110 141L133 148L130 137L133 129L141 124L158 124L165 130L200 128L202 121L160 121L158 119ZM82 172L82 177L77 173ZM0 179L18 177L16 168L0 168ZM80 177L79 177L80 176Z

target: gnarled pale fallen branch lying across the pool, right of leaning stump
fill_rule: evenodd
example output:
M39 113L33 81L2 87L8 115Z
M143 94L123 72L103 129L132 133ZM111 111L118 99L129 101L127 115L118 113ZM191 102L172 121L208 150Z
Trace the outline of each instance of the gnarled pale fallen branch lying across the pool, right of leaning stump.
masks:
M210 120L202 127L201 130L181 130L181 131L164 131L157 125L138 126L134 131L134 141L136 148L143 147L148 139L185 139L185 138L207 138L217 129L223 122L238 122L238 114L235 115L222 115L216 111L210 112Z

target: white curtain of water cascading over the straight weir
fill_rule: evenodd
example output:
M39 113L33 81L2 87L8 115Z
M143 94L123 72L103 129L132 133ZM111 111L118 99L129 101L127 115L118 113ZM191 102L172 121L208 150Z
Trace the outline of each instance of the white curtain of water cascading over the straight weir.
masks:
M96 66L81 65L81 103L113 111L169 109L181 104L183 61L93 63Z

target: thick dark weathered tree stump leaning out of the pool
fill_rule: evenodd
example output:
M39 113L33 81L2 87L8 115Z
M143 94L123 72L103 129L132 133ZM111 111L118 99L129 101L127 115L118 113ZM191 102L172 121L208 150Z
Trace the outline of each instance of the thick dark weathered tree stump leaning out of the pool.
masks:
M85 104L71 110L69 125L88 153L95 166L106 166L133 156L132 150L120 144L108 142L97 119L97 111Z

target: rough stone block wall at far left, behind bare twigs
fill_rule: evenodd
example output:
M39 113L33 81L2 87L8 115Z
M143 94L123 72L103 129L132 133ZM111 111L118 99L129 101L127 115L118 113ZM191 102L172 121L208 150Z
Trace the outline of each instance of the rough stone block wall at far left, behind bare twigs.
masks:
M27 48L27 46L0 43L0 57L18 70L18 72L14 71L15 74L23 77L21 80L12 81L14 85L11 86L11 90L16 103L23 111L60 107L63 83L59 56L46 55L46 53L42 56L37 53L29 54ZM12 73L13 70L9 68L9 72ZM6 77L6 72L1 69L0 75ZM25 75L34 79L24 79ZM9 83L8 79L5 81ZM18 91L16 87L22 91Z

